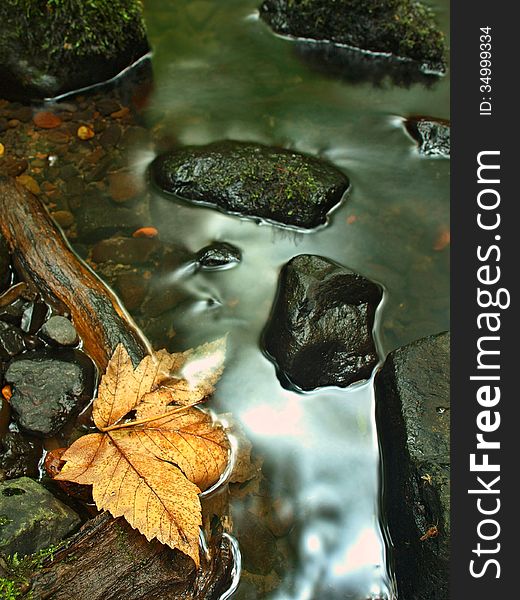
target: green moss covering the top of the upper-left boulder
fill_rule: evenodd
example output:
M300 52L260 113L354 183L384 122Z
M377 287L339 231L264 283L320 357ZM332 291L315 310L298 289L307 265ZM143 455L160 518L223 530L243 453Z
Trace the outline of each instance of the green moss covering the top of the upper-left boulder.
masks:
M0 55L14 38L49 61L92 53L110 57L129 38L145 36L139 0L3 0L0 17L8 24Z

